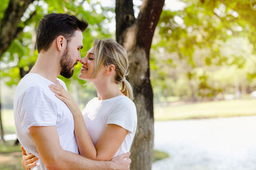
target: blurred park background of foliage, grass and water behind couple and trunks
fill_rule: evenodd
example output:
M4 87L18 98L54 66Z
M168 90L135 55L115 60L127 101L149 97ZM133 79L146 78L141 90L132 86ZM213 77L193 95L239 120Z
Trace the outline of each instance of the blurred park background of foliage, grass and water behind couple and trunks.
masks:
M1 1L2 21L8 3ZM137 17L142 1L133 3ZM13 96L38 54L36 25L52 12L88 21L82 57L93 39L115 39L115 1L29 4L21 18L24 29L1 53L0 169L21 168L20 146L14 145ZM256 169L255 20L254 0L165 1L150 49L155 159L161 159L152 169ZM80 68L75 67L70 80L61 79L83 109L97 93L77 78Z

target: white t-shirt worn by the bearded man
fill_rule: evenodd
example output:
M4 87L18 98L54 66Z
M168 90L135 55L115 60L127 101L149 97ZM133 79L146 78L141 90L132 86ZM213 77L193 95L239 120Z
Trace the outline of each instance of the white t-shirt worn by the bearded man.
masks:
M67 90L63 81L57 81ZM15 91L13 112L15 131L26 153L39 158L33 169L46 169L29 132L31 126L56 126L63 150L77 153L74 119L67 105L49 89L52 81L39 74L29 73L20 80Z

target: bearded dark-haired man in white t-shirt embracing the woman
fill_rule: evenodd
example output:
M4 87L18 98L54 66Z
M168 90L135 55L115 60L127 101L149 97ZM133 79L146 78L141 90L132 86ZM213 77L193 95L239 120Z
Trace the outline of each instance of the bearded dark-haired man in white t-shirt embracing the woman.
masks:
M73 15L51 13L38 24L38 59L17 85L14 99L17 138L26 153L38 157L33 169L129 169L129 153L112 161L95 161L78 155L74 121L68 107L49 89L65 83L81 60L83 34L88 23Z

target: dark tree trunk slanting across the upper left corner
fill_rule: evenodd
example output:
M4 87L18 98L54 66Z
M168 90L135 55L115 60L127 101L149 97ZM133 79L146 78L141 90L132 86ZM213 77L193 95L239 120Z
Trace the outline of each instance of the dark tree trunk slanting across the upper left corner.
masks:
M29 4L33 3L35 0L10 0L8 7L4 11L4 17L1 20L0 26L0 59L3 53L11 45L13 39L17 38L22 32L24 27L20 27L20 18L23 13L28 8ZM35 11L30 15L28 20L30 20L35 15ZM26 20L24 25L26 25Z

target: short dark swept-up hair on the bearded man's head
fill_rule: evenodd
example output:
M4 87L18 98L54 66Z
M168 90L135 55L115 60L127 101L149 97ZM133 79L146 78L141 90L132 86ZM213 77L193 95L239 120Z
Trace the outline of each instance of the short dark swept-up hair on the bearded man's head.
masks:
M88 27L86 20L79 20L67 13L51 13L45 15L38 24L36 33L37 50L47 51L52 41L58 36L64 36L67 41L76 30L84 31Z

